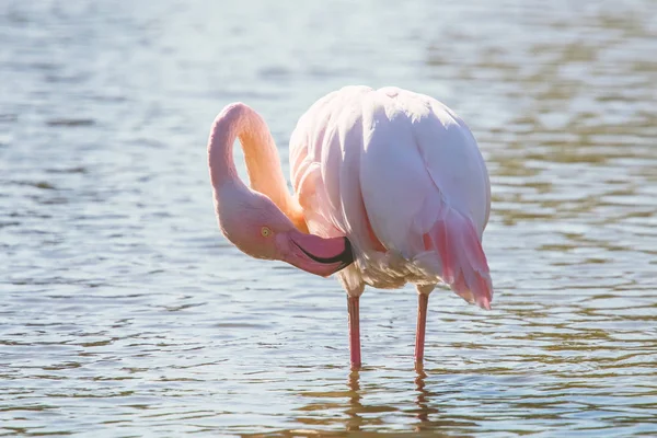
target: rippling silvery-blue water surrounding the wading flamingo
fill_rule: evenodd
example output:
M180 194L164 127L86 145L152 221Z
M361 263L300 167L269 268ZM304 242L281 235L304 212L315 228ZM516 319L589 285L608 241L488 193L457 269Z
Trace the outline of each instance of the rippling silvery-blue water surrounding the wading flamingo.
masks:
M3 1L0 435L655 436L656 38L649 0ZM420 372L412 288L366 291L350 373L337 283L214 218L224 104L287 174L349 83L446 102L491 171L494 310L435 292Z

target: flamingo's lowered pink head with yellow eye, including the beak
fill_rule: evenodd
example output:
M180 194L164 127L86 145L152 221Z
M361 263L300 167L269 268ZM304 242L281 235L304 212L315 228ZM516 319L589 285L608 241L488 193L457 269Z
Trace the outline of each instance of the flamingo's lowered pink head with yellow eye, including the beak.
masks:
M322 277L354 262L347 238L306 234L268 197L246 189L250 196L242 193L239 201L227 201L232 196L224 194L217 203L221 231L240 251L255 258L287 262Z

